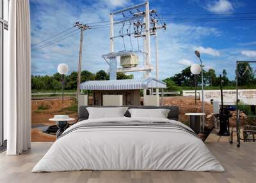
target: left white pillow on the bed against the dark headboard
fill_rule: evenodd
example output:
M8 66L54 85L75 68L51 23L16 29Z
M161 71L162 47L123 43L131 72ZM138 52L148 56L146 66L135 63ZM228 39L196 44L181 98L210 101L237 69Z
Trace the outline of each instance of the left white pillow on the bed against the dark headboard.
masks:
M120 118L125 117L124 114L128 107L86 107L89 117L95 118Z

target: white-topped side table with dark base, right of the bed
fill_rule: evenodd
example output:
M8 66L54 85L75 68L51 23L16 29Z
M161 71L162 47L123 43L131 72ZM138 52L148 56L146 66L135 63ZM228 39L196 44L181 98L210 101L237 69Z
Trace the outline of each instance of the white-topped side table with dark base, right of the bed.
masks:
M199 134L201 132L201 121L205 113L186 113L185 115L190 118L189 127L193 129L196 134ZM204 131L204 129L202 131Z

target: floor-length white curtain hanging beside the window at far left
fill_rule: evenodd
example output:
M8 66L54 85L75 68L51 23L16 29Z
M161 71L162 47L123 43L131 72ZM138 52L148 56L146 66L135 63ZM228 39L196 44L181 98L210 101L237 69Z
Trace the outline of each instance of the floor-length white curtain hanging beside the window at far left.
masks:
M4 66L4 120L7 152L18 155L31 145L31 70L29 0L10 1L8 61Z

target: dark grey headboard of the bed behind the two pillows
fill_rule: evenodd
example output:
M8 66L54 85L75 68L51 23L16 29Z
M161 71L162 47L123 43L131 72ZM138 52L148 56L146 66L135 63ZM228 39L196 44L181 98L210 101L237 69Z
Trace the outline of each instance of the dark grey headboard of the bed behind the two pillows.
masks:
M78 117L79 117L79 122L82 120L87 120L89 117L89 113L86 109L86 107L118 107L118 106L80 106L79 107L79 113L78 113ZM139 109L170 109L170 112L168 113L167 118L169 120L176 120L179 121L179 107L178 106L125 106L125 107L129 107L129 109L132 108L139 108ZM126 113L124 114L126 117L131 117L131 114L129 113L129 111L126 111Z

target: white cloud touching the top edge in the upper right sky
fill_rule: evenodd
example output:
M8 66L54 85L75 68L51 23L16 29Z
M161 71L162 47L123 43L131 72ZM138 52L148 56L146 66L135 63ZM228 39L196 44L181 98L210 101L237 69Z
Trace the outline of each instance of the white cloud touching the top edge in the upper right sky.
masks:
M217 0L209 2L206 9L213 13L230 13L234 7L228 0Z

